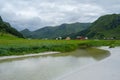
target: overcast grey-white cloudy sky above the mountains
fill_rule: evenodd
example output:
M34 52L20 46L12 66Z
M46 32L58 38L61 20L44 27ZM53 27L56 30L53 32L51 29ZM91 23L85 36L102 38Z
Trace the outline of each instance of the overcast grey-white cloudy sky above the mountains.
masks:
M120 13L120 0L0 0L0 16L18 30L93 22Z

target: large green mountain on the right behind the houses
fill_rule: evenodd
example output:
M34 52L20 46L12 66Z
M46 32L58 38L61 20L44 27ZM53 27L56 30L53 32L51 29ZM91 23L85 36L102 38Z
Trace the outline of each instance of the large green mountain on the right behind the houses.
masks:
M120 14L110 14L99 17L91 26L80 31L75 36L87 36L91 39L120 39Z

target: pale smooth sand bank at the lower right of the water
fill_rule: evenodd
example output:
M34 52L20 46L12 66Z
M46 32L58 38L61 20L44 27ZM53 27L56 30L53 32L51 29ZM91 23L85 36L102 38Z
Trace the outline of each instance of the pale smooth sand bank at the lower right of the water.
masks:
M100 47L100 49L110 51L111 56L98 63L68 73L57 80L119 80L120 47Z

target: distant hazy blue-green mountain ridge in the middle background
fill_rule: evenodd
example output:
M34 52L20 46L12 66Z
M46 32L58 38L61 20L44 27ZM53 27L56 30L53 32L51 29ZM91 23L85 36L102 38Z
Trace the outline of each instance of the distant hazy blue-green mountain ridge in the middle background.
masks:
M59 26L48 26L36 31L30 32L28 30L23 30L21 33L28 38L48 38L55 39L56 37L63 37L65 35L74 34L79 31L87 29L91 23L72 23L72 24L62 24Z

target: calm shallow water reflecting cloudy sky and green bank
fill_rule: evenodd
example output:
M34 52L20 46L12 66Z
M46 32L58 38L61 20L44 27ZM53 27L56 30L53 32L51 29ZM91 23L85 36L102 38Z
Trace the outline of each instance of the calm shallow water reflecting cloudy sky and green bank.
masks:
M55 80L109 56L106 51L98 56L96 52L101 51L79 49L70 53L1 60L0 80Z

